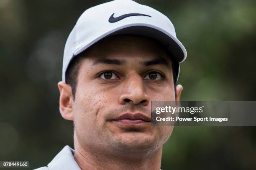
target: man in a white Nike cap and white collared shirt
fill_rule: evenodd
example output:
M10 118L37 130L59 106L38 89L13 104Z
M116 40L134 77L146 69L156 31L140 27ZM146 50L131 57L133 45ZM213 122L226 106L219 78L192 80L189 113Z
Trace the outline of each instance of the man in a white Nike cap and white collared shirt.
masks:
M186 50L170 20L132 0L86 10L64 50L62 117L74 122L65 146L41 170L159 170L172 126L151 125L151 101L179 100Z

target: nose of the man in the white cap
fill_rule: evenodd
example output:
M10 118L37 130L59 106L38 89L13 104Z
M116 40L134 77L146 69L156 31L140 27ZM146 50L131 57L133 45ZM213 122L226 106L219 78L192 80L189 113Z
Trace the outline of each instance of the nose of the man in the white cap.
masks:
M146 94L140 75L134 73L130 75L124 83L123 93L119 99L121 104L132 103L133 105L148 105L149 97Z

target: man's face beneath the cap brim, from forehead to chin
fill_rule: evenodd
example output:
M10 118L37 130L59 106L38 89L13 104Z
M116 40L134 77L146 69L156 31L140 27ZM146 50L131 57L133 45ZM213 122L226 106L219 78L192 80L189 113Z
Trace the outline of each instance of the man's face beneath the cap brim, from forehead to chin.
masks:
M85 148L154 150L172 126L152 126L151 101L175 100L172 62L159 42L118 35L93 45L81 61L72 119Z

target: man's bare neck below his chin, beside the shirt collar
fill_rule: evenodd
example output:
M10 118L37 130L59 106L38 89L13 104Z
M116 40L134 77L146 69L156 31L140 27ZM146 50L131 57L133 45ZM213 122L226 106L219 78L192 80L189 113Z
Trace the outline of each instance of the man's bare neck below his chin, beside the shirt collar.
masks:
M74 158L82 170L160 170L162 147L144 153L91 152L75 142Z

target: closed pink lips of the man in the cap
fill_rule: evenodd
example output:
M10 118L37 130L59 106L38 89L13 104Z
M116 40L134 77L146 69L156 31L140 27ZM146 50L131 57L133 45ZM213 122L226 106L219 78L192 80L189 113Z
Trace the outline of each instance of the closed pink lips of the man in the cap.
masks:
M140 124L150 122L151 118L142 113L125 113L113 119L124 124Z

